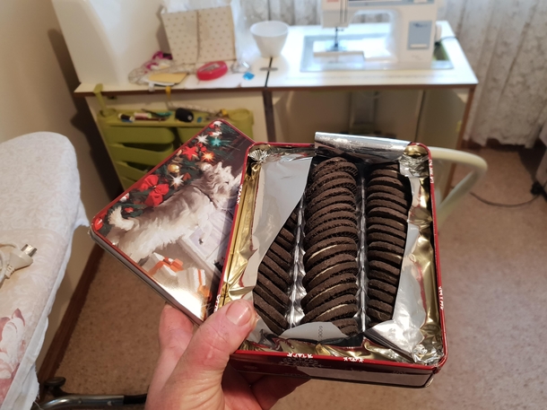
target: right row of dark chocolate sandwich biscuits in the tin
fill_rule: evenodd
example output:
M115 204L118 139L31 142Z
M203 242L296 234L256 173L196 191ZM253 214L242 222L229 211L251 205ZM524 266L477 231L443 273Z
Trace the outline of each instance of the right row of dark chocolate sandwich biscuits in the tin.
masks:
M401 175L397 164L382 165L370 172L365 206L369 327L393 317L411 198L408 179Z

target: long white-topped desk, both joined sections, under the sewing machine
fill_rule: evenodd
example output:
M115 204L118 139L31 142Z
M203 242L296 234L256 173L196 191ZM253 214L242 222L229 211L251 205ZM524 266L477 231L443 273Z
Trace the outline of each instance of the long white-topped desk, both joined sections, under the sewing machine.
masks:
M370 31L373 26L355 24L345 32ZM252 63L252 80L227 74L200 82L188 75L172 88L172 99L212 109L250 109L256 141L311 143L316 131L347 129L351 92L376 92L375 124L382 135L459 148L478 81L448 22L441 26L450 69L300 72L304 36L332 30L292 26L281 57L258 57ZM268 66L271 71L263 70ZM82 83L74 94L86 98L96 117L100 107L94 87ZM112 97L108 105L115 109L165 109L167 101L161 87L149 92L146 86L131 83L103 84L102 93Z

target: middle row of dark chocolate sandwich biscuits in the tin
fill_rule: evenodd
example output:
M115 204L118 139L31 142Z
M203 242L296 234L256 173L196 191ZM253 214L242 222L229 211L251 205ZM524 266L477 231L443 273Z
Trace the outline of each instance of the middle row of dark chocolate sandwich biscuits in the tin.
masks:
M304 267L306 296L301 324L332 322L348 336L359 332L357 167L343 158L319 163L306 189Z

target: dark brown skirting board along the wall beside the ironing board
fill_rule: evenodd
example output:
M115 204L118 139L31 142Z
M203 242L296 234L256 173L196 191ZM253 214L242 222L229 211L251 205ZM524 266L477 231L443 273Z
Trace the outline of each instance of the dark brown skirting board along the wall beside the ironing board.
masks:
M83 269L82 277L76 285L76 289L66 308L65 316L63 316L61 324L57 328L53 341L49 346L48 353L38 371L40 388L43 386L44 381L55 376L59 365L65 357L68 342L72 337L74 327L76 327L76 323L82 312L83 304L85 303L91 282L93 282L93 279L97 274L100 257L102 257L103 253L104 250L100 249L98 245L95 245L93 249L91 249L91 254Z

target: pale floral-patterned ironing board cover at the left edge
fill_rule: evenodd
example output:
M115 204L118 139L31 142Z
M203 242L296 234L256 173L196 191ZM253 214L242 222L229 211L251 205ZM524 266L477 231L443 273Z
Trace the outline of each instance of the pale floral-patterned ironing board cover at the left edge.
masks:
M0 243L38 249L32 265L0 288L0 410L30 408L36 399L35 362L48 314L74 229L87 224L74 147L65 136L33 133L0 144Z

